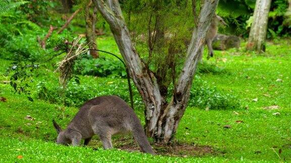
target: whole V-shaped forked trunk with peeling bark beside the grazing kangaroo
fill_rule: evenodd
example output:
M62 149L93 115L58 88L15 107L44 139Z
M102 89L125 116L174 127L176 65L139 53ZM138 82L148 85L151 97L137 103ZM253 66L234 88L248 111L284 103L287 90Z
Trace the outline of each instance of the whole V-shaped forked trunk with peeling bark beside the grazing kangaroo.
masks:
M144 65L135 50L118 1L93 0L93 3L110 25L133 82L146 105L147 135L154 137L157 142L169 143L187 106L198 58L202 54L201 50L210 26L210 18L213 18L218 0L204 1L197 27L193 29L191 42L187 49L187 58L169 103L161 96L156 77Z

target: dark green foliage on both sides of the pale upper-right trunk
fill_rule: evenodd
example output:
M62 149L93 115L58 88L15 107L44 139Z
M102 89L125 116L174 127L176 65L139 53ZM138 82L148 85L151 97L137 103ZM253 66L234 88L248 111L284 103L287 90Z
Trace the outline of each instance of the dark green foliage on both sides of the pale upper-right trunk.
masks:
M220 32L235 33L236 35L248 37L255 4L256 1L254 0L220 1L217 13L228 24L228 27ZM284 17L287 8L287 0L272 1L267 38L274 39L277 36L290 36L290 26L288 26L288 23L284 23L288 21L288 17Z

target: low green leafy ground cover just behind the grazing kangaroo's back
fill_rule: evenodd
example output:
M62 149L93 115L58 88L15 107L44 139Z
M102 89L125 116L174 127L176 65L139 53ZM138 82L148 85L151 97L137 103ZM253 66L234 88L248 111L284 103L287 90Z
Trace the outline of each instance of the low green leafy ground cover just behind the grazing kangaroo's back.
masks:
M39 82L36 87L36 98L49 101L51 103L64 104L65 106L79 107L84 102L99 96L117 95L129 103L128 86L123 80L108 80L109 78L101 78L93 83L78 84L70 81L67 88L60 85ZM82 80L81 80L82 82ZM135 104L137 103L138 94L135 93Z

